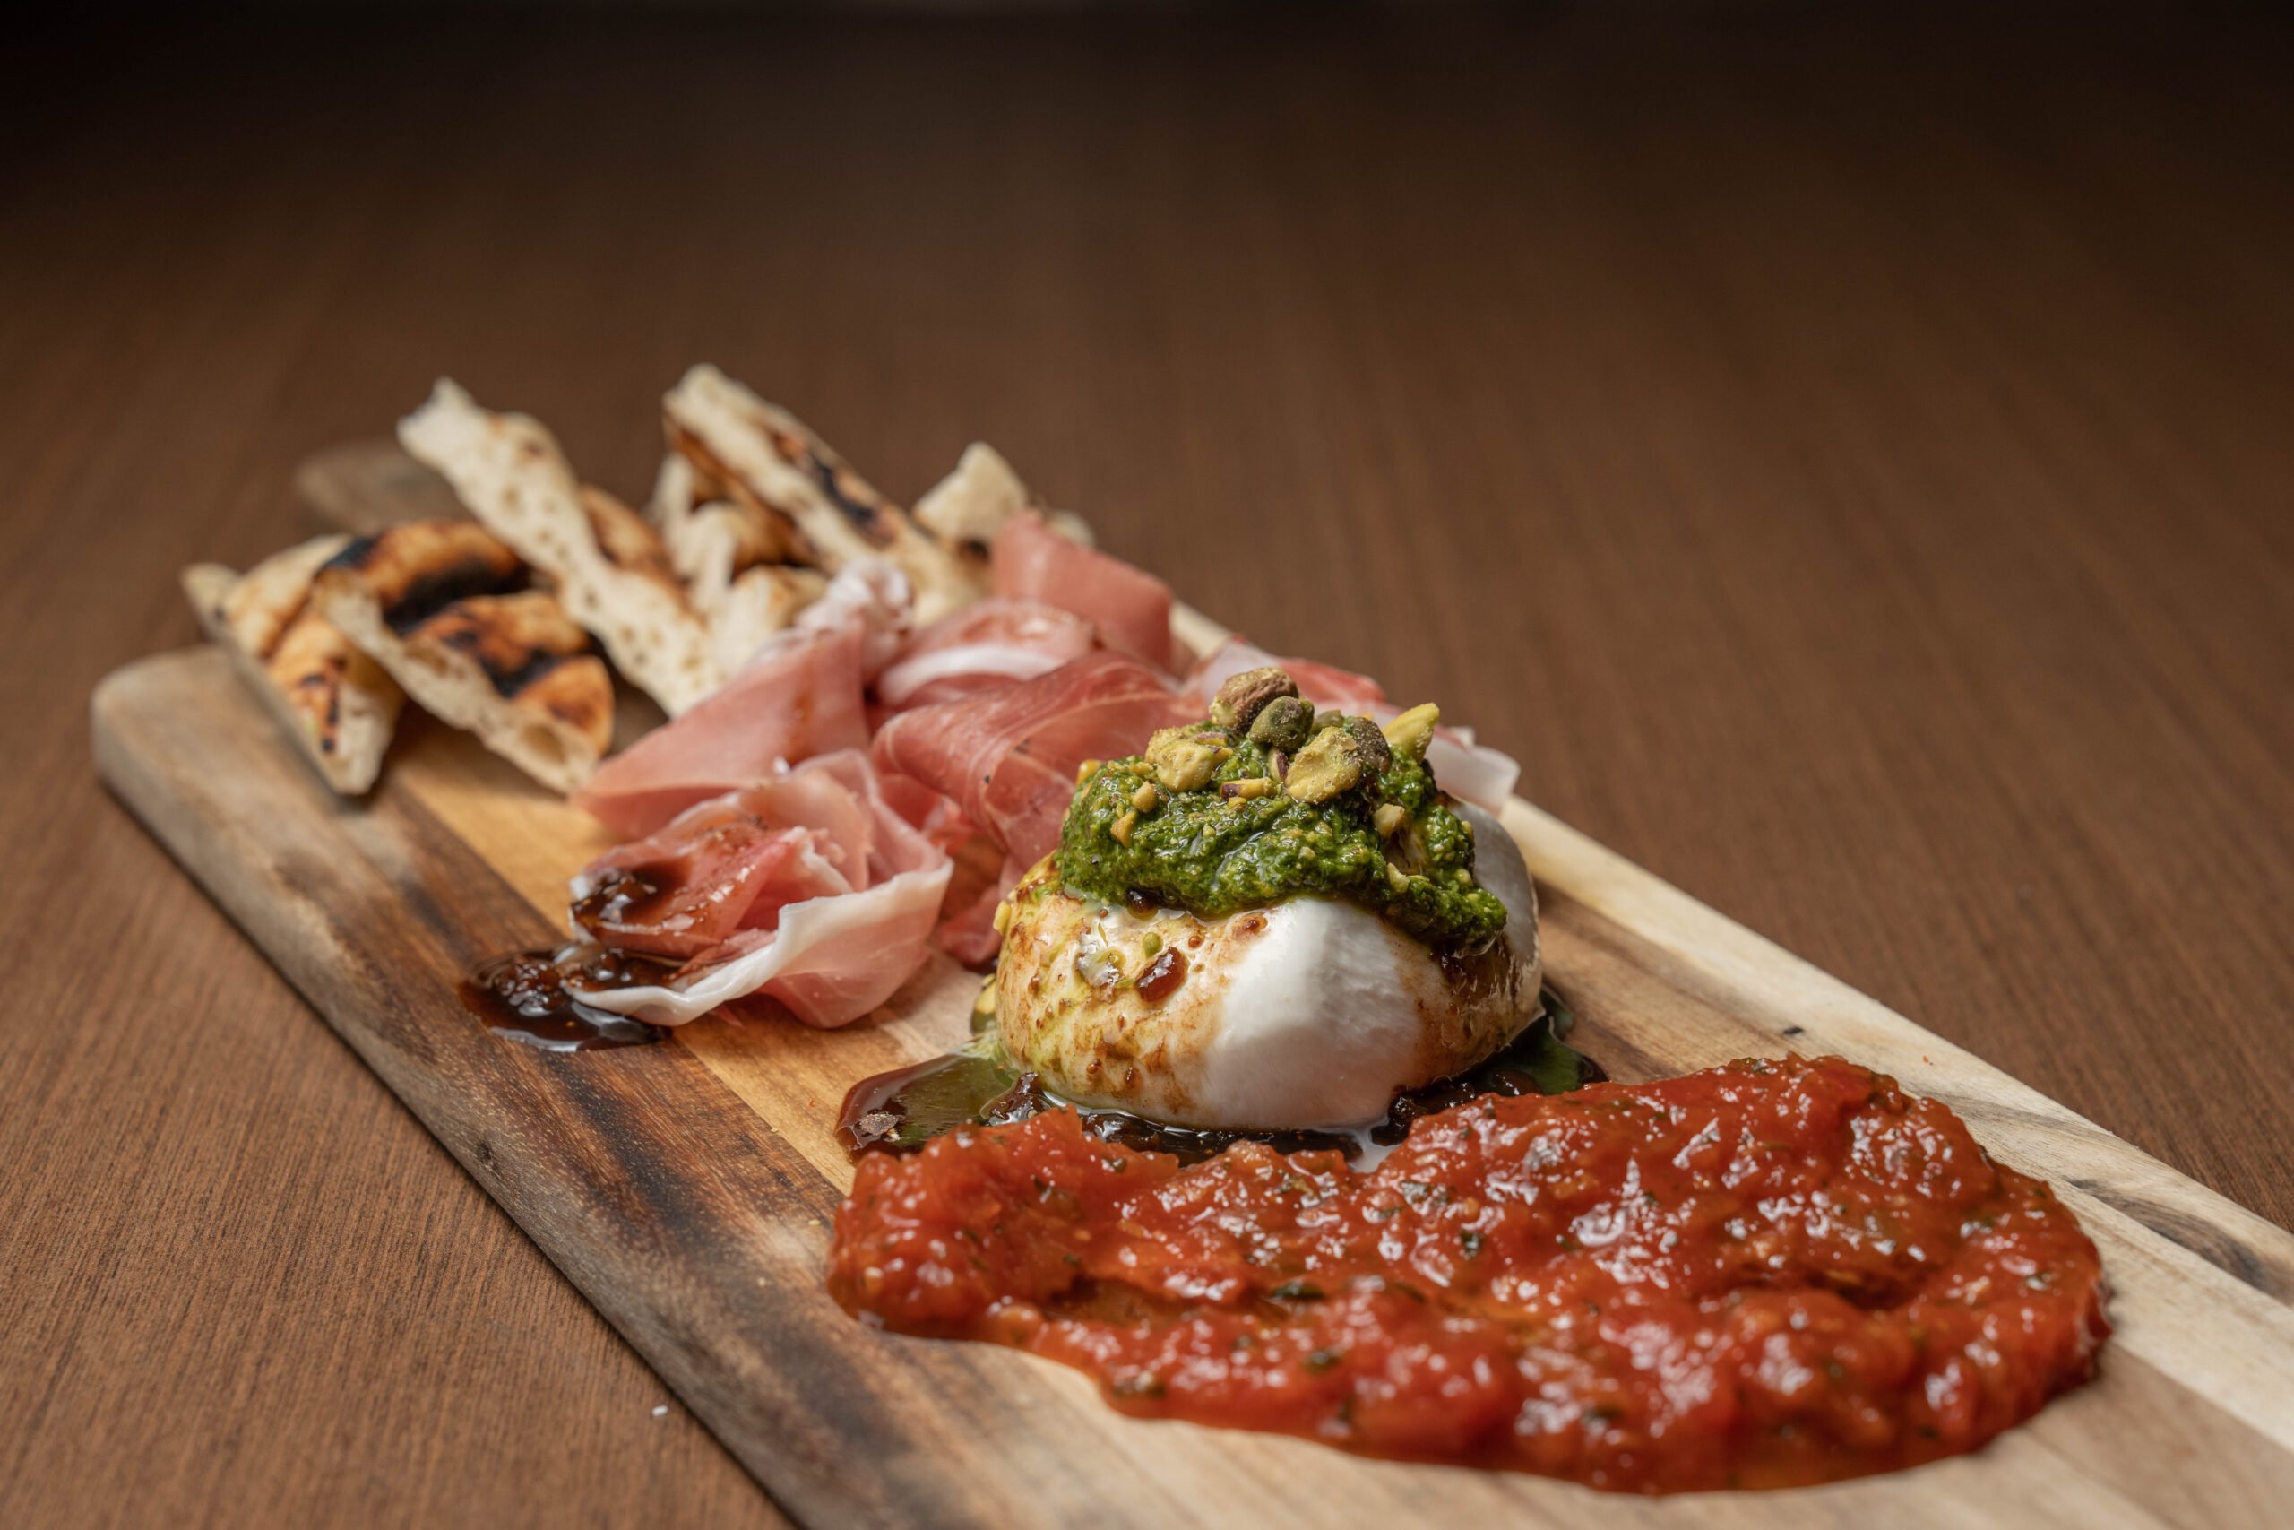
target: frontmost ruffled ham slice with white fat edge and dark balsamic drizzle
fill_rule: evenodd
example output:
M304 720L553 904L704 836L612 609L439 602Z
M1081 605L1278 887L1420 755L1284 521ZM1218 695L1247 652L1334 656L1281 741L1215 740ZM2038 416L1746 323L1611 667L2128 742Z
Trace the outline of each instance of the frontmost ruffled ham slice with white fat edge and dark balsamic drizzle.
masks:
M844 1025L924 961L950 869L858 750L775 768L574 879L583 934L681 963L658 984L574 996L684 1025L762 993L805 1025Z

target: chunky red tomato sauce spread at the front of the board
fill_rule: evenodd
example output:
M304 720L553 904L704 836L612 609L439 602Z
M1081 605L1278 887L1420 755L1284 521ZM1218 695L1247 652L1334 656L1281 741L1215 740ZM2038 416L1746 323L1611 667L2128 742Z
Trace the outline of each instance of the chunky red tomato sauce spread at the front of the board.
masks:
M1840 1057L1487 1096L1370 1172L961 1129L860 1161L828 1285L1129 1413L1643 1493L1975 1450L2110 1333L2049 1186Z

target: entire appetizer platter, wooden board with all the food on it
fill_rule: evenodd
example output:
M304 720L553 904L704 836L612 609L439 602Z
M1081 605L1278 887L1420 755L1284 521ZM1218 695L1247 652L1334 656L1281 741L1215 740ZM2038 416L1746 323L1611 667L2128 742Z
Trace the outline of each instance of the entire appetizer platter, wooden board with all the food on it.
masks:
M713 367L454 383L96 764L803 1523L2276 1523L2294 1236Z

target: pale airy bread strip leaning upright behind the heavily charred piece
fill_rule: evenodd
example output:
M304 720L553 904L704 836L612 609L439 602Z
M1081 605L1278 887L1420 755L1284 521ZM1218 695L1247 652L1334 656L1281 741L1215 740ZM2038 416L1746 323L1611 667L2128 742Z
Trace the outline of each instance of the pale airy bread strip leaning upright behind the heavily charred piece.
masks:
M479 525L551 576L567 615L677 716L723 681L709 624L686 599L661 532L574 477L557 440L528 415L479 408L440 381L399 422L399 440L445 475Z

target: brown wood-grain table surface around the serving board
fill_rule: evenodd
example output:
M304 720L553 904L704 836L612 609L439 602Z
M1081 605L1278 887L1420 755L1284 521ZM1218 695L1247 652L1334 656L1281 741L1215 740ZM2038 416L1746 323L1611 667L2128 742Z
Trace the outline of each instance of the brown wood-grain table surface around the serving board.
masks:
M775 1523L89 778L450 372L718 360L2294 1220L2294 34L151 25L0 112L0 1523ZM663 1411L665 1408L665 1411Z

